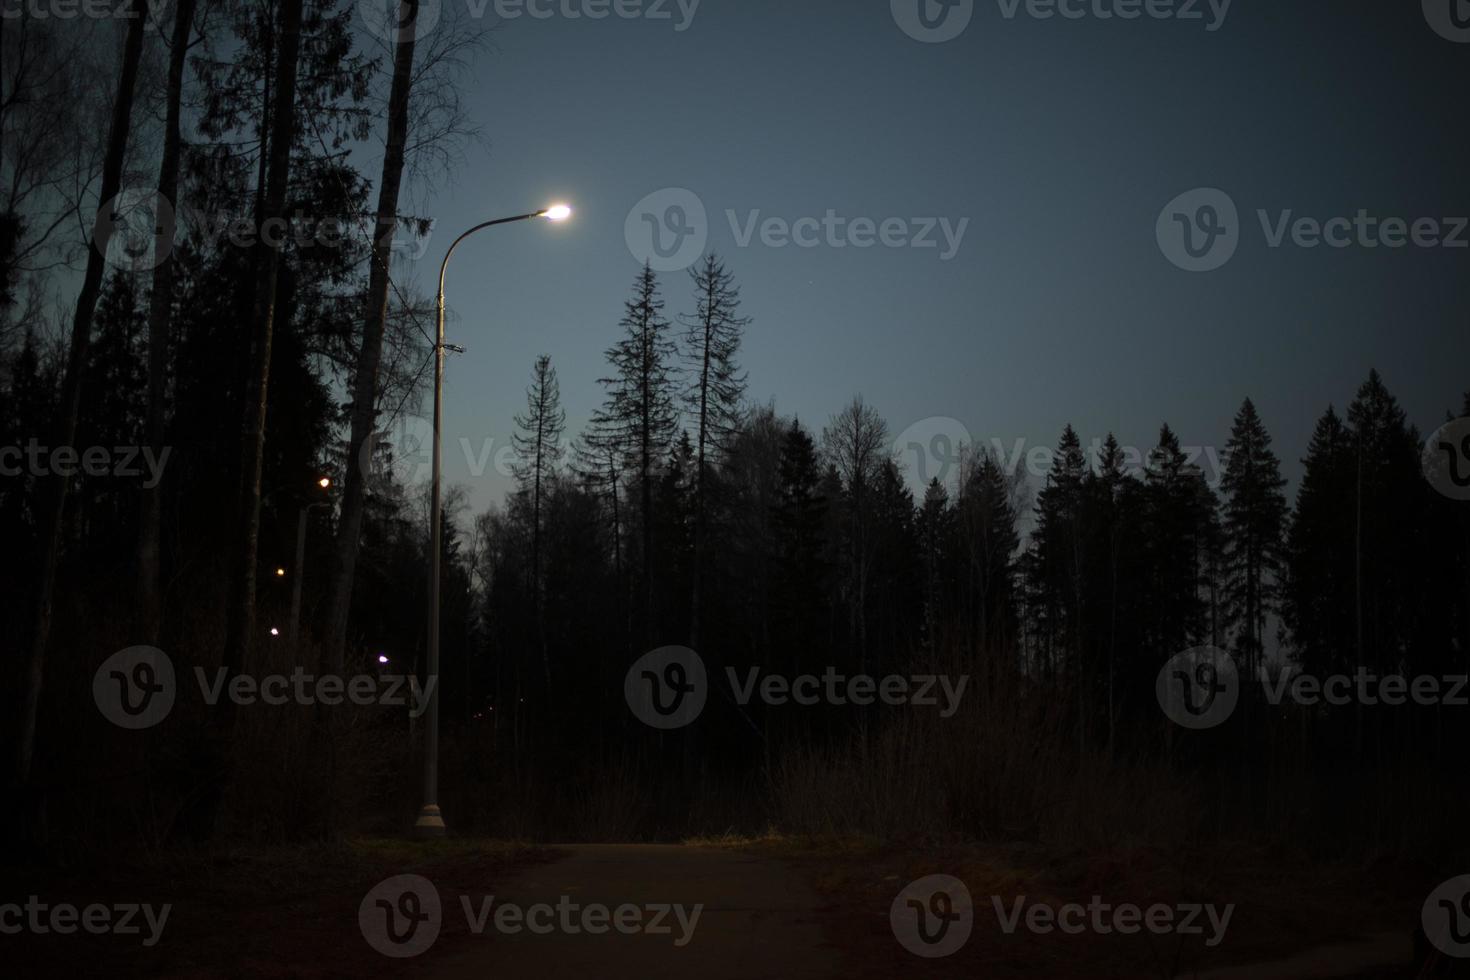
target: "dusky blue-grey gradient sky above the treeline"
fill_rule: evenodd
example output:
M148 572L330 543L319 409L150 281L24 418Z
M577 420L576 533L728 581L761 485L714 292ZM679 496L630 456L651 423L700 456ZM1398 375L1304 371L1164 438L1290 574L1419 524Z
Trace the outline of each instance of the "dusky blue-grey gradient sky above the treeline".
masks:
M751 398L817 429L861 392L895 436L953 417L982 442L1051 447L1070 422L1085 444L1113 430L1147 450L1167 420L1220 447L1251 397L1295 478L1316 419L1370 367L1426 435L1470 388L1470 248L1270 248L1255 216L1470 215L1470 44L1419 3L1236 0L1211 32L978 0L942 44L906 35L888 0L703 0L682 32L669 9L498 22L466 93L490 150L415 201L440 223L397 275L431 295L463 228L576 207L487 232L450 269L448 339L467 353L447 376L445 479L476 511L509 482L475 476L460 439L509 444L537 354L572 432L601 401L639 264L625 220L663 188L698 194L744 291ZM1155 241L1166 203L1198 187L1241 213L1238 253L1210 273ZM738 247L728 209L969 228L950 262ZM686 273L662 281L669 313L689 309Z

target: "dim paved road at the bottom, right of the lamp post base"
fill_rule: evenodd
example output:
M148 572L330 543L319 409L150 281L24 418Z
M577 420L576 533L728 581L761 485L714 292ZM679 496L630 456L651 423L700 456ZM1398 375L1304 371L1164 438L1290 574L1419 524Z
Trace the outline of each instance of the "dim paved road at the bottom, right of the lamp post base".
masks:
M434 964L444 980L825 980L836 977L836 952L816 921L817 898L784 865L717 848L679 845L572 845L570 857L531 868L494 889L484 932ZM487 895L469 896L473 914ZM570 907L572 930L557 924L547 934L495 929L494 909L513 905ZM589 905L610 909L675 905L663 915L663 934L584 932ZM703 905L695 918L694 907ZM679 912L682 911L682 918ZM459 896L445 896L445 915L465 915ZM641 911L651 923L657 912ZM625 917L632 909L625 909ZM537 914L545 927L550 911ZM629 918L623 920L625 924ZM594 926L600 924L592 921Z

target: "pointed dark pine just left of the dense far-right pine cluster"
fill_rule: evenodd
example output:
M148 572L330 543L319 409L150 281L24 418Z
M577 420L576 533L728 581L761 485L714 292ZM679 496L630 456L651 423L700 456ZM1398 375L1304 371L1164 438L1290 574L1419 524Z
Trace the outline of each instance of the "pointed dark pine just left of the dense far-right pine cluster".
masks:
M1279 607L1286 480L1250 398L1241 406L1226 444L1225 617L1235 649L1254 677L1264 654L1266 617Z

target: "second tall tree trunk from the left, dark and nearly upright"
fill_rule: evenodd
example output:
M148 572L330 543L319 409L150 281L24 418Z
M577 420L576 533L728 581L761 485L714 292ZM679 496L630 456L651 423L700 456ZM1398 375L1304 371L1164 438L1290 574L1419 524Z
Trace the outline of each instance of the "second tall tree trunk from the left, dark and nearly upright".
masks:
M168 107L163 119L163 160L159 163L159 201L172 207L179 182L179 104L184 98L184 62L188 32L194 21L194 0L179 0L173 12L173 47L169 50ZM163 453L163 401L169 369L169 319L173 309L173 231L163 222L154 242L153 292L148 297L148 445L156 457ZM143 489L138 517L138 616L143 638L159 641L162 582L159 536L163 523L163 485Z

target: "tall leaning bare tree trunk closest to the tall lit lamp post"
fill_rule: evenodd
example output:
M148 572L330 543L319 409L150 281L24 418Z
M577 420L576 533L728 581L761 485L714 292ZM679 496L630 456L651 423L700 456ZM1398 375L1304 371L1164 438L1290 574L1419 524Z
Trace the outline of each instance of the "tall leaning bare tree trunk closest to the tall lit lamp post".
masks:
M398 223L398 190L403 184L403 153L409 138L409 90L413 85L413 50L419 16L419 0L401 0L400 24L392 57L392 87L388 94L388 131L382 157L382 179L378 182L378 220L372 244L372 266L368 273L368 316L363 320L363 342L357 351L353 379L351 436L347 444L347 472L343 480L343 514L337 532L337 555L332 564L331 598L326 611L326 657L338 673L347 646L347 619L353 605L353 580L357 573L357 551L362 545L363 505L368 488L368 460L373 426L378 422L378 369L382 364L382 335L388 320L388 289L391 285L392 234Z

